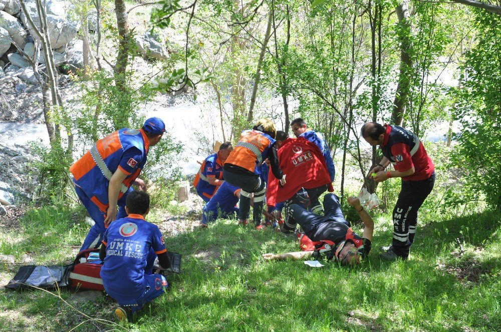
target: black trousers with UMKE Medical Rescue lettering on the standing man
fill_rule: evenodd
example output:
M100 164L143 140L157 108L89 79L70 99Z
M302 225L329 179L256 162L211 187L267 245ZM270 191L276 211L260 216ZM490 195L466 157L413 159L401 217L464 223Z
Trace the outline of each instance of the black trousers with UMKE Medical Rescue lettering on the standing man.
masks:
M409 255L414 242L417 211L435 184L435 173L420 181L402 181L402 189L393 209L393 251L402 257Z

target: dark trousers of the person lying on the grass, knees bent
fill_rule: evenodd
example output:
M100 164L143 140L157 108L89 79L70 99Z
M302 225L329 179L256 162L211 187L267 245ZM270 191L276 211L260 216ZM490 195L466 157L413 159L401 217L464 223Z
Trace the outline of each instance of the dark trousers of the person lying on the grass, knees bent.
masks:
M328 193L324 196L324 210L325 215L322 216L308 211L298 204L292 204L290 206L291 215L289 217L289 220L294 220L295 222L299 223L303 228L305 234L308 235L308 237L313 241L320 241L329 238L329 234L325 233L324 231L317 231L319 228L327 231L327 228L320 227L325 222L338 221L345 224L346 229L350 226L350 223L344 218L343 211L341 211L339 197L335 194ZM335 223L333 223L333 225L335 225Z

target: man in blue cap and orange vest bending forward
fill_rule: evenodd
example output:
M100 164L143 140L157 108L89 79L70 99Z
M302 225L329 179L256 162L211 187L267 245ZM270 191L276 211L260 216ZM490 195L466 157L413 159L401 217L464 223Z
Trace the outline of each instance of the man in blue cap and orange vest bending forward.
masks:
M99 247L109 223L127 216L125 199L134 190L132 184L146 190L137 176L148 148L162 139L164 131L164 122L150 117L141 129L123 128L99 139L70 167L75 191L95 221L80 251Z

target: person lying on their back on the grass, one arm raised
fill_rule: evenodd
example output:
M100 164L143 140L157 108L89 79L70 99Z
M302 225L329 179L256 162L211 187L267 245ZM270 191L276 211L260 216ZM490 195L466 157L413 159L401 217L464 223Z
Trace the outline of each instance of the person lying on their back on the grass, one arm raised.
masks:
M341 211L339 197L333 193L328 193L324 197L324 216L316 215L298 204L287 206L285 213L288 213L289 223L299 223L305 235L312 241L324 242L320 251L325 253L328 259L336 259L342 265L355 265L359 264L360 259L366 257L371 250L374 221L357 197L348 197L348 203L357 210L364 223L362 237L351 229L350 223L346 221ZM302 239L300 238L303 243ZM314 250L309 250L283 254L265 253L263 258L265 260L301 259L311 256L314 252Z

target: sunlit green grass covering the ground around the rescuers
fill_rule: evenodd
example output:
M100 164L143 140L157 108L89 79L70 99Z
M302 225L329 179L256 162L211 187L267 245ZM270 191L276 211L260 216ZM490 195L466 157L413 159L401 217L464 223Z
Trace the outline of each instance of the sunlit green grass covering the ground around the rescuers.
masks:
M494 331L501 329L501 213L486 210L459 217L432 201L421 208L410 260L387 263L378 247L389 244L389 213L375 215L373 250L361 266L337 263L314 269L302 261L266 262L265 252L297 251L297 240L269 229L218 220L208 229L167 237L183 254L183 273L168 277L168 292L146 305L138 331ZM84 212L32 209L18 230L3 229L0 253L37 263L71 261L88 229ZM355 227L357 228L357 227ZM359 229L356 229L359 230ZM47 234L46 234L47 233ZM459 238L464 254L459 255ZM16 266L0 266L14 275ZM92 317L113 319L113 299L75 302ZM0 290L0 330L70 330L84 318L46 292ZM110 327L85 322L80 331Z

